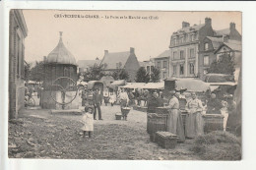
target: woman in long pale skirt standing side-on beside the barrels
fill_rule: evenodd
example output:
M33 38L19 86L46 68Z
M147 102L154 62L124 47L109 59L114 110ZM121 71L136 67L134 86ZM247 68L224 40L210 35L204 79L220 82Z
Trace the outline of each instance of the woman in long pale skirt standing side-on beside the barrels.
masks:
M167 131L179 136L178 142L185 141L184 128L181 113L179 111L179 93L171 90L168 108Z

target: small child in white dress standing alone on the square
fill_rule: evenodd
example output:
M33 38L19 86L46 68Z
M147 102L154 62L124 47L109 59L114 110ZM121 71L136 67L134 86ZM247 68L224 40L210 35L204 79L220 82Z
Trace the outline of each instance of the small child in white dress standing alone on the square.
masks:
M94 106L87 106L85 107L85 112L82 117L82 122L84 126L82 127L82 130L84 131L84 138L87 135L89 138L92 137L92 132L94 131Z

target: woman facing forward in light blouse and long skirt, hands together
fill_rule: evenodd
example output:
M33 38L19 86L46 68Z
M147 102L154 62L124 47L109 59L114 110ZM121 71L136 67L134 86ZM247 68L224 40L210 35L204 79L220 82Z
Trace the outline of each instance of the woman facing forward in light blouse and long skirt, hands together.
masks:
M204 121L202 117L203 105L201 100L197 99L196 93L191 92L192 99L186 104L188 112L186 118L186 137L195 138L204 134Z

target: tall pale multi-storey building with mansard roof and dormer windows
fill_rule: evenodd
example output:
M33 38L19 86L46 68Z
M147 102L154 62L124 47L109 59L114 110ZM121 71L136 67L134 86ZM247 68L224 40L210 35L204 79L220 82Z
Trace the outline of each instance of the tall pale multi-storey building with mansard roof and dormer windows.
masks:
M206 18L205 24L190 27L189 23L183 22L182 28L173 32L170 37L170 77L191 77L199 76L199 55L198 51L206 36L214 36L212 19Z

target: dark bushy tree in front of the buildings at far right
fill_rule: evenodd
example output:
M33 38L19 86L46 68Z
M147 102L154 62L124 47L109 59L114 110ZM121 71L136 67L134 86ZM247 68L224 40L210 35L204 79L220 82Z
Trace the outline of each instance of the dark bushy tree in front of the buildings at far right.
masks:
M220 56L218 61L214 61L210 68L207 70L208 73L216 73L216 74L227 74L233 75L234 69L234 62L233 57L228 54L224 53Z

